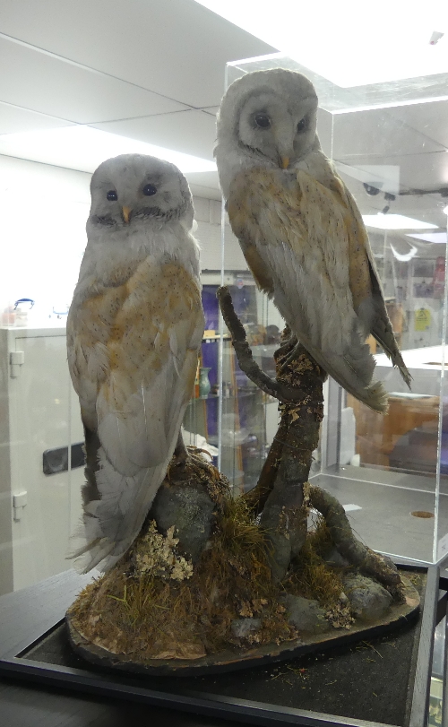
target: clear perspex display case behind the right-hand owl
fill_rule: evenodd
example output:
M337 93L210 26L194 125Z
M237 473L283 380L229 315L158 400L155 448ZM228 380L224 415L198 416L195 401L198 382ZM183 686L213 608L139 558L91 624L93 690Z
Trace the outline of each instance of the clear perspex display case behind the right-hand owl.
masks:
M435 562L448 553L448 76L340 88L275 54L229 64L227 85L243 74L275 67L300 71L314 82L323 151L365 219L393 330L413 377L409 392L369 339L375 376L389 394L389 412L370 411L330 379L324 386L325 416L311 475L339 498L354 531L371 548ZM228 223L225 227L224 246ZM280 316L254 288L245 268L226 269L224 277L232 279L232 296L256 358L273 375ZM236 448L233 471L227 473L237 489L249 489L275 436L277 402L254 390L226 341L223 381L224 390L230 382L237 394L232 404ZM227 422L225 410L223 462Z

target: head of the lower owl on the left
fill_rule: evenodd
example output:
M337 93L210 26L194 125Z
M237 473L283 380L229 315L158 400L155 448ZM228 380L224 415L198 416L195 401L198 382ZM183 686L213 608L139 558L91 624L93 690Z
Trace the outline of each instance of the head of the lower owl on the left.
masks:
M193 203L184 175L174 164L144 154L103 161L90 181L88 225L133 229L144 221L193 224Z

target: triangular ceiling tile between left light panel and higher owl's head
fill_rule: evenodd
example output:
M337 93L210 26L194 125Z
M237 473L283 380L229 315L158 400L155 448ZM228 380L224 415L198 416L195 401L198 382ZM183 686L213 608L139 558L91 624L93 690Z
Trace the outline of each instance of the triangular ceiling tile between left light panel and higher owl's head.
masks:
M213 159L216 119L203 111L180 111L156 117L130 118L92 125L112 134L129 136L202 159Z

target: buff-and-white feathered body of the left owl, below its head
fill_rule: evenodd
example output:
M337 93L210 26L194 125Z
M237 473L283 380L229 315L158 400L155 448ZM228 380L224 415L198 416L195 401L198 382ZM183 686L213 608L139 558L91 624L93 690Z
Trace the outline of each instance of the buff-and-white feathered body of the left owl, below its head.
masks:
M99 443L73 556L84 571L108 570L140 532L177 443L202 341L198 281L147 259L125 285L73 307L67 332L84 426Z

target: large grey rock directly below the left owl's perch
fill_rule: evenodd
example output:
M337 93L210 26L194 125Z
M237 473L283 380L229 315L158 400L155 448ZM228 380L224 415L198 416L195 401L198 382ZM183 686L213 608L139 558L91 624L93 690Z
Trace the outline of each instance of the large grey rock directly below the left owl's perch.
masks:
M165 482L152 503L150 517L164 534L175 525L177 548L195 563L211 536L215 507L205 488Z

